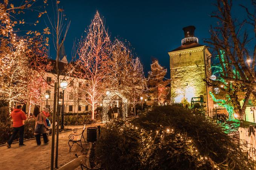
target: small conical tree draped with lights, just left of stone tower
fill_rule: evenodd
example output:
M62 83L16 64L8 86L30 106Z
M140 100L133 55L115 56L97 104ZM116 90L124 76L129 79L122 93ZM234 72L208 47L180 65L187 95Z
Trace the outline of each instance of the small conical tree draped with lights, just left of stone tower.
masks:
M153 60L151 71L148 72L147 84L149 92L153 93L152 97L155 100L155 104L164 104L168 99L167 96L170 93L170 89L166 86L170 81L165 78L166 73L167 69L163 68L158 63L158 60Z

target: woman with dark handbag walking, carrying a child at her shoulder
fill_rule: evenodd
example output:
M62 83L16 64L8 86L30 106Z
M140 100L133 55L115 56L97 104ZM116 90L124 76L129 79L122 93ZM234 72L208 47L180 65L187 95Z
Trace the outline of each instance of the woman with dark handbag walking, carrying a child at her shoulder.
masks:
M37 145L41 144L41 134L43 134L44 144L49 143L49 140L48 140L48 137L47 137L47 134L46 134L47 124L46 124L46 121L45 121L46 118L47 118L45 116L45 114L47 114L47 110L49 111L48 108L44 108L44 111L40 112L39 107L35 106L34 111L33 111L33 116L35 118L35 130L36 130L38 124L43 126L43 130L42 130L41 133L34 132L35 138L37 140Z

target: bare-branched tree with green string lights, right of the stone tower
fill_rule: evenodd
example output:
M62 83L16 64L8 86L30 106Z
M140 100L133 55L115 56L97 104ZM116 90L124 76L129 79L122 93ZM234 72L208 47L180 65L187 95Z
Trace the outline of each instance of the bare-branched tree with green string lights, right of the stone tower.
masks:
M250 11L240 5L247 12L247 18L239 22L233 18L232 3L228 0L218 0L216 6L218 10L213 12L212 17L219 20L218 26L211 28L211 38L205 42L212 45L216 52L218 64L213 69L216 69L216 74L219 75L217 81L208 84L213 84L215 93L222 95L225 102L218 102L230 108L227 109L229 114L233 107L235 114L242 118L251 94L256 97L256 45L254 49L250 49L249 45L251 41L255 41L255 36L249 38L247 29L243 29L248 26L254 34L256 33L256 8ZM256 7L256 3L252 2L252 6ZM241 100L244 101L242 105Z

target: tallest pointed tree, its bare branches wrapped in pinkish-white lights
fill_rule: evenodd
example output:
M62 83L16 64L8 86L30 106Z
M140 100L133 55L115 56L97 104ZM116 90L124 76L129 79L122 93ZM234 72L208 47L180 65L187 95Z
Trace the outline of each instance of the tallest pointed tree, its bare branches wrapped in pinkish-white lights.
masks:
M78 76L88 81L81 89L88 94L84 99L92 107L92 119L95 104L105 95L104 79L109 73L110 38L102 20L97 11L78 52Z

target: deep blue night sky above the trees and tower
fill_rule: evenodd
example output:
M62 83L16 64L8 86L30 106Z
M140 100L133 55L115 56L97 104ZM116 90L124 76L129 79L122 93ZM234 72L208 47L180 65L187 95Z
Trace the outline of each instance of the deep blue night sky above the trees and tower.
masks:
M111 40L119 37L131 43L134 52L144 65L145 75L150 70L151 59L157 58L160 65L168 68L166 77L170 77L168 51L181 45L181 39L184 38L183 27L194 25L195 36L198 37L199 44L205 45L203 39L209 38L210 25L216 25L216 19L210 17L211 12L215 10L213 6L215 0L60 1L59 6L63 6L66 17L71 20L64 43L68 60L71 59L73 41L85 35L85 29L88 28L98 10L105 19L105 26L108 28ZM248 4L250 1L245 5ZM49 0L48 7L50 5ZM236 17L241 17L242 9L237 5L234 7ZM49 10L52 9L47 9ZM42 19L45 21L40 21L41 24L38 25L45 27L45 23L48 22L47 18L42 17ZM55 56L56 51L50 43L50 57L55 59Z

